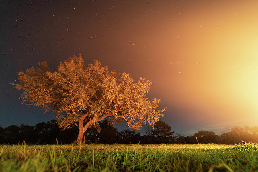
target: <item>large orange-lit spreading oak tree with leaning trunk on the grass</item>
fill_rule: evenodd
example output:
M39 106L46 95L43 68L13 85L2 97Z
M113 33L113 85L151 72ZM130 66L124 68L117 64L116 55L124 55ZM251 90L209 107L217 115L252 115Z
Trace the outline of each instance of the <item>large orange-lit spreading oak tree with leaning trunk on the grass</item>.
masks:
M125 120L129 128L140 129L146 123L153 126L165 112L156 110L160 99L146 97L150 81L140 78L135 83L126 73L118 77L98 60L85 67L81 55L60 63L57 72L41 62L19 72L19 83L11 84L23 90L20 98L29 106L56 111L60 128L77 126L79 143L87 128L99 128L98 121L105 118L110 124Z

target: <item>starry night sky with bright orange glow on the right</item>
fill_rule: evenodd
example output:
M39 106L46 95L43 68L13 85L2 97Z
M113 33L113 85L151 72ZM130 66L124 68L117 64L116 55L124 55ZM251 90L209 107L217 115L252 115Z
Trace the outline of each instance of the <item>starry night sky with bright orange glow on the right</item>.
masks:
M21 104L17 72L82 54L153 85L176 133L258 125L258 1L0 1L0 125L54 113ZM123 129L125 125L119 127Z

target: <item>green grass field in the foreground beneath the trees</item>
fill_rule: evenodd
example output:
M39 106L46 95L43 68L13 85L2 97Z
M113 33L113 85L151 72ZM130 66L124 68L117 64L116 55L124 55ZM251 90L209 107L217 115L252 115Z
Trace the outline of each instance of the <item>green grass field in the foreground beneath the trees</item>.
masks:
M258 171L258 145L0 145L0 171Z

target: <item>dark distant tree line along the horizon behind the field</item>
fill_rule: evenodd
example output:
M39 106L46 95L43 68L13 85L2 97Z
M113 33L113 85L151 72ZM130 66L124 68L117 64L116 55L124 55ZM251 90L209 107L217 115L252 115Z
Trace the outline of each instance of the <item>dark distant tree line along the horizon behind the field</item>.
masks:
M145 127L145 135L140 132L125 129L118 131L109 125L108 120L99 122L98 128L89 128L83 137L83 143L142 143L142 144L197 144L216 143L216 144L236 144L244 142L258 143L258 126L227 128L225 133L216 135L212 131L199 131L192 136L185 136L181 133L171 131L171 127L163 121L158 121L154 128ZM25 141L27 144L55 144L56 139L59 143L76 143L78 128L60 130L57 121L51 120L47 123L38 123L35 126L21 124L21 126L11 125L6 128L0 126L0 144L16 144Z

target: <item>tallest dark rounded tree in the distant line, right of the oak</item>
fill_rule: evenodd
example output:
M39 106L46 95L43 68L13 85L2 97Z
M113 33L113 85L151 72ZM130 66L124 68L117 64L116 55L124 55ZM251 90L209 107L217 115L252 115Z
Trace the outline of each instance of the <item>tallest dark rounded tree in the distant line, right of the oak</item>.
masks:
M153 135L157 138L158 143L172 143L174 138L172 135L175 133L171 131L171 126L169 126L164 121L158 121L154 125L152 130Z

